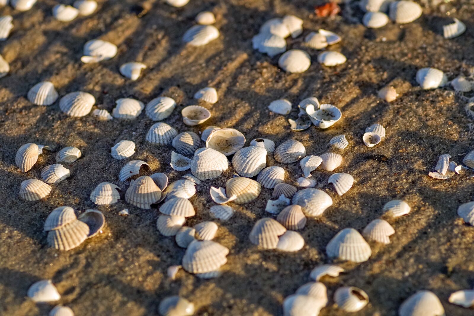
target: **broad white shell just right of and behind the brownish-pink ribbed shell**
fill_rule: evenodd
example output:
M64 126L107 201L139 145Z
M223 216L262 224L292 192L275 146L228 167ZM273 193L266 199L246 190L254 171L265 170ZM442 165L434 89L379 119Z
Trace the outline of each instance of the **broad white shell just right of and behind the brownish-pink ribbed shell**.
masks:
M309 188L296 192L292 203L301 206L306 216L317 217L332 205L332 199L324 191Z

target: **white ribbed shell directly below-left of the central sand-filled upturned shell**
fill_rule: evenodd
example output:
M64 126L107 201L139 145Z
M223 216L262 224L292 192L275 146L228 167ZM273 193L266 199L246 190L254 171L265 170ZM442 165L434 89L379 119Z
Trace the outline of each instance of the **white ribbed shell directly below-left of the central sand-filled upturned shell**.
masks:
M229 167L227 157L212 148L199 148L191 163L191 173L199 180L215 179Z

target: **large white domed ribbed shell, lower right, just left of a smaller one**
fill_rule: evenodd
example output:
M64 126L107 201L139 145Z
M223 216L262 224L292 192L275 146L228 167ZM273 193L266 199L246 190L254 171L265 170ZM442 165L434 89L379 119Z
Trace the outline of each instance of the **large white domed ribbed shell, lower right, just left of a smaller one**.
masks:
M329 258L365 262L369 260L372 250L358 231L354 228L344 228L326 245L326 253Z

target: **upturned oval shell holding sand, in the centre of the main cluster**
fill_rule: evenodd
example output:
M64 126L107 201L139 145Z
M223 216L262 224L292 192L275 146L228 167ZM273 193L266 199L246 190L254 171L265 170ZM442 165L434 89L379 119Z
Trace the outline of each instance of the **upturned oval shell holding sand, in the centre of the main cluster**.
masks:
M234 128L213 130L206 139L206 147L228 156L244 147L245 136Z

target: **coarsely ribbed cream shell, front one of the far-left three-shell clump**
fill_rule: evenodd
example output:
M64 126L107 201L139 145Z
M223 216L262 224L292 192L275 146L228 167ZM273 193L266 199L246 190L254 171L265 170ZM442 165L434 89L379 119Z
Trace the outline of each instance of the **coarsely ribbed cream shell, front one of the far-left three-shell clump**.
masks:
M74 220L48 233L47 241L50 247L68 251L76 248L89 235L89 226L80 220Z

